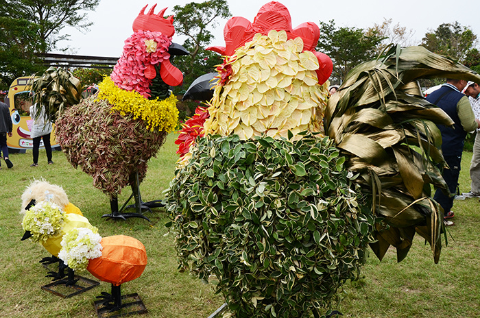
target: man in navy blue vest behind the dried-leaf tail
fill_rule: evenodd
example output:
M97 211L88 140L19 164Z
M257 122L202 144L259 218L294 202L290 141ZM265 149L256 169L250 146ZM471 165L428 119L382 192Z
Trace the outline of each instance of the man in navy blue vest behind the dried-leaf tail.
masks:
M446 79L442 87L427 96L427 101L442 108L455 122L453 128L438 125L442 133L442 153L448 164L448 169L443 169L442 176L452 195L445 195L437 189L433 199L444 209L445 225L454 225L449 219L454 216L451 208L457 191L465 137L468 132L480 128L480 121L475 119L468 97L461 93L466 84L467 81L464 79Z

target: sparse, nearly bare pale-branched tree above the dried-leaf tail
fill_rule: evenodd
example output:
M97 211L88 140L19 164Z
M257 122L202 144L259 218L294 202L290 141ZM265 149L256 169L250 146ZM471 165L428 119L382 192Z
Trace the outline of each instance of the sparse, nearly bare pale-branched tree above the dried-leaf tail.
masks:
M377 35L381 36L381 40L378 47L376 47L376 54L379 55L383 52L385 47L389 44L394 43L400 45L400 47L410 47L415 45L413 41L413 34L415 32L412 29L407 30L407 27L400 26L400 23L392 25L392 19L383 18L383 22L379 24L374 24L373 27L367 29L366 34L368 35Z

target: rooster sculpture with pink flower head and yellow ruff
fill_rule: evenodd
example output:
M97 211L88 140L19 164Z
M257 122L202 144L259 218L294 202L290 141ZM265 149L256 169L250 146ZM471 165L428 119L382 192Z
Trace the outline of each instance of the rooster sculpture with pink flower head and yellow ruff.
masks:
M158 202L144 203L139 184L147 161L178 121L177 99L169 87L182 84L183 76L170 58L187 51L171 42L175 30L173 17L163 17L166 8L154 14L154 5L145 14L146 7L97 95L71 106L56 122L58 143L71 164L92 175L93 185L109 195L112 213L107 217L147 219L142 209ZM137 213L119 213L117 197L128 185Z

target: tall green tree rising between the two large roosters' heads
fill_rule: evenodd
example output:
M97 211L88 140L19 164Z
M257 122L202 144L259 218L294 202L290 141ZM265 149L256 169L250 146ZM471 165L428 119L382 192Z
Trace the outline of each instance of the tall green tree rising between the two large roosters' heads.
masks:
M183 7L176 5L173 12L176 34L187 36L183 46L190 52L189 56L176 57L176 64L182 65L184 72L185 89L195 78L213 72L215 66L221 64L221 57L205 48L213 40L209 29L219 25L218 19L227 19L231 14L226 0L191 2Z

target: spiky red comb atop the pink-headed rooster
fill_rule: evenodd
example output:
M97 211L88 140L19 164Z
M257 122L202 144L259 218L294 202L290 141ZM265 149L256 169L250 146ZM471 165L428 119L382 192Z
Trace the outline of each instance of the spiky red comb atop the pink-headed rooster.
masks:
M173 28L173 16L169 16L167 19L163 17L165 10L167 8L160 10L158 14L154 14L156 4L150 9L148 14L145 14L145 9L148 5L140 10L139 16L136 17L133 21L133 31L137 32L139 30L151 31L151 32L162 32L163 35L169 36L170 38L175 34L175 29Z

